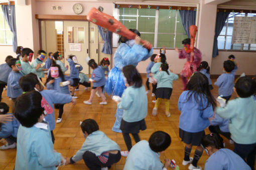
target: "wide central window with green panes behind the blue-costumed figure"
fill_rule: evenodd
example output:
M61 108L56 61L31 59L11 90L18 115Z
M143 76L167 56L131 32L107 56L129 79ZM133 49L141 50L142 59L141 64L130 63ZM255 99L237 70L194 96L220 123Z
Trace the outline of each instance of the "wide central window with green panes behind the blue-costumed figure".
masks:
M127 28L137 28L142 39L157 48L182 48L181 41L188 37L179 11L174 9L120 8L119 20Z

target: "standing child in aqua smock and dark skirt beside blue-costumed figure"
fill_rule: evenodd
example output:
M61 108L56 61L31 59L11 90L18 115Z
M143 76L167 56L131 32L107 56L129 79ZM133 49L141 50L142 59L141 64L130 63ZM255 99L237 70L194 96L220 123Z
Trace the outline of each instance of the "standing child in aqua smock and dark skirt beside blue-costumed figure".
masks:
M120 129L128 151L122 151L121 154L125 156L132 148L130 133L134 136L135 141L139 142L141 140L140 130L147 128L145 117L148 114L148 97L142 84L141 74L136 67L126 65L122 71L127 88L123 91L121 101L117 101L117 108L123 109Z

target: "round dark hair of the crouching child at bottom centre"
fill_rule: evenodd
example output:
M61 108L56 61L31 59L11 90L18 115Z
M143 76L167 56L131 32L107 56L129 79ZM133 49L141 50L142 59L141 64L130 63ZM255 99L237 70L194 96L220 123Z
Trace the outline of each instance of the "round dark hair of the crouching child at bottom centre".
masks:
M166 150L171 144L171 136L164 131L155 131L149 138L150 148L155 152Z

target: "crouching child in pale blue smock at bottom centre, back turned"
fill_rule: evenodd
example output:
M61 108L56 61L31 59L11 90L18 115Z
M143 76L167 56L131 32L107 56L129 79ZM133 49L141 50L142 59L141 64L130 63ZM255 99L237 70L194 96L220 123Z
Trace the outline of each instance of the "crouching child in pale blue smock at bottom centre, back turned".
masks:
M165 164L160 160L160 154L171 144L171 136L164 131L151 134L149 141L142 140L136 143L126 158L124 170L167 170L170 159L165 159Z

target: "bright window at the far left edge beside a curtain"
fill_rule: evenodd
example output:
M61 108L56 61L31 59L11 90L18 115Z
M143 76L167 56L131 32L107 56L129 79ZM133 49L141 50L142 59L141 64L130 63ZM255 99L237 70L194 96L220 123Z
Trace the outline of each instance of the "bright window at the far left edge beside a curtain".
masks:
M12 45L13 32L5 19L1 5L0 8L0 44Z

